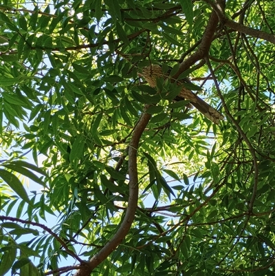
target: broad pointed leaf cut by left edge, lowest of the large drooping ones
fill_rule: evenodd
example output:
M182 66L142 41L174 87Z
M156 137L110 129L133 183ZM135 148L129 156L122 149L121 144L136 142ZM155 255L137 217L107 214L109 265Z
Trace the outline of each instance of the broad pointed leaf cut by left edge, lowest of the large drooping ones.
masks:
M14 174L10 173L10 171L0 169L0 177L10 186L10 188L12 188L12 190L15 191L15 193L17 193L20 196L20 198L25 200L25 202L30 203L28 194L25 191L21 181L17 178L17 176L14 176Z

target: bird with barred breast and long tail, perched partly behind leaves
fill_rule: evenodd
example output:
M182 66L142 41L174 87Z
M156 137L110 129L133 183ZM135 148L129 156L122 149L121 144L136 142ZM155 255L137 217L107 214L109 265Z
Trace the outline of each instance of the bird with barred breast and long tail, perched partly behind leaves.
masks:
M157 64L151 64L150 66L143 67L142 76L151 87L157 86L157 78L168 78L168 76L162 72L162 67ZM190 80L186 78L184 82L190 82ZM203 99L199 98L199 96L185 87L182 87L181 92L179 92L179 95L175 98L175 100L190 100L190 103L196 107L201 114L206 116L206 118L211 120L216 125L218 125L220 120L223 120L224 118L223 115L217 111L217 109L214 109L214 107L206 103Z

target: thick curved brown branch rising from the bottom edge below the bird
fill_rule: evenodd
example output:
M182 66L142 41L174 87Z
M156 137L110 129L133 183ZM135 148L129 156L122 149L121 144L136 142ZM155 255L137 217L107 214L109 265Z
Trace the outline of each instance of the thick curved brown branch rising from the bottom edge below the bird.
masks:
M137 148L140 142L140 137L151 118L151 114L146 114L146 109L149 105L144 108L144 113L142 114L140 120L135 126L133 131L133 136L129 143L129 202L126 209L126 213L120 228L113 235L111 240L105 244L105 246L94 256L89 262L80 266L80 269L74 274L74 276L87 276L90 275L91 271L104 261L115 248L124 240L131 228L131 224L135 218L135 210L137 209L137 199L138 199L138 178L137 178Z

